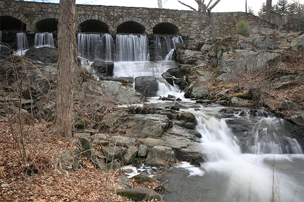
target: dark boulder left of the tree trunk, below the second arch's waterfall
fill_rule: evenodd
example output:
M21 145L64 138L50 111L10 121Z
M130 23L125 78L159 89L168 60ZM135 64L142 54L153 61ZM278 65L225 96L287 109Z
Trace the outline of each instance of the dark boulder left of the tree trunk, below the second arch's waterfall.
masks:
M25 53L24 57L43 63L56 63L58 51L53 47L33 47Z

